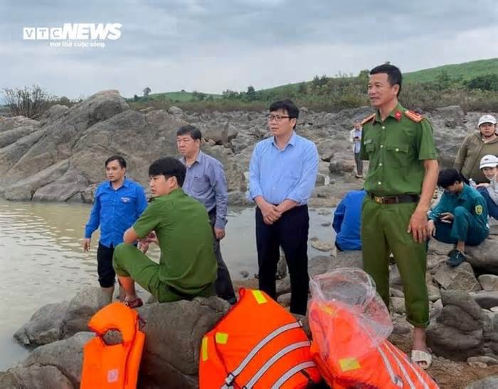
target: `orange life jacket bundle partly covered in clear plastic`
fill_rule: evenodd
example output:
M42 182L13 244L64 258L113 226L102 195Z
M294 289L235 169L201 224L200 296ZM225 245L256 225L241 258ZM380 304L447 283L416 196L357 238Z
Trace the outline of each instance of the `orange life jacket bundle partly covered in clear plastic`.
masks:
M318 275L311 290L311 352L332 388L438 388L386 340L393 329L391 317L363 270L339 268Z

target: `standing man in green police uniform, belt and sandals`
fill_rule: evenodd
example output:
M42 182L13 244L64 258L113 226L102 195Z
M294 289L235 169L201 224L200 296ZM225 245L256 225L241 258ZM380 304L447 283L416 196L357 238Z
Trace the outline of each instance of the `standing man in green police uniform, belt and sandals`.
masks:
M369 98L376 113L362 122L361 158L370 165L361 243L364 268L386 305L393 253L403 280L407 320L415 327L411 358L428 368L432 358L425 343L429 324L425 239L427 212L438 181L438 155L429 122L398 103L401 78L393 65L370 71Z

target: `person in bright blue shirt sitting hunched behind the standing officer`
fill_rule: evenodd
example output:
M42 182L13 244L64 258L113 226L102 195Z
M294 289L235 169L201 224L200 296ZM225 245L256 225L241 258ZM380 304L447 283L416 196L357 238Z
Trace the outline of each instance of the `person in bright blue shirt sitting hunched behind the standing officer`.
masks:
M336 247L339 251L361 250L361 204L366 191L351 190L341 200L334 212L332 227L336 231Z

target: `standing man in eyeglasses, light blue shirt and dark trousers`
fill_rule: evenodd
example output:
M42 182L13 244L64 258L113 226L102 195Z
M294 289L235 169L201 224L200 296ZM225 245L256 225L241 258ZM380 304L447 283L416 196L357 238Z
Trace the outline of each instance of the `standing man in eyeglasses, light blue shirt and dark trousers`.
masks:
M250 159L250 198L256 207L256 246L260 290L276 300L279 247L290 273L290 312L306 314L309 276L307 202L318 172L318 151L295 133L299 109L275 102L267 116L271 138L260 141Z

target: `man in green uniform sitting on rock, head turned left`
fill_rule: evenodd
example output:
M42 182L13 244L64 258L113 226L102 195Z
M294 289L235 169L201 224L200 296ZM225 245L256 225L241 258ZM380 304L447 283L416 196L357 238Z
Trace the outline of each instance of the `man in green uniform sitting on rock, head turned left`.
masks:
M175 158L161 158L149 167L152 201L124 232L113 265L129 307L143 304L134 281L159 302L215 295L216 258L206 208L181 189L186 168ZM140 240L142 251L132 243ZM147 256L150 242L161 248L159 264Z

